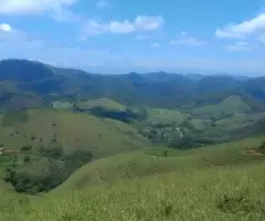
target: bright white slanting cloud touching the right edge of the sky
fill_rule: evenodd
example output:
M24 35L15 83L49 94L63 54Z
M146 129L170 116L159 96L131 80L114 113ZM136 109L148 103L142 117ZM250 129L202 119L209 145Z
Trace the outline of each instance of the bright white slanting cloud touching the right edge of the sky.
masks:
M218 38L244 39L259 31L265 31L265 13L237 24L227 24L223 29L218 29L215 35Z

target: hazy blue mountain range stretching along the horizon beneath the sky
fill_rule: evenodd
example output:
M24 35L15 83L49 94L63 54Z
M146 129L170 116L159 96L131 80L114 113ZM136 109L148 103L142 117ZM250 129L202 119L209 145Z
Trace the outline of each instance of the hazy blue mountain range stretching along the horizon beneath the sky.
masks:
M203 76L161 71L100 75L25 60L1 61L0 85L0 108L17 101L18 94L34 101L33 106L46 105L52 99L109 98L132 106L174 108L187 104L214 104L233 94L247 97L259 107L265 101L265 77L242 80L226 74ZM32 104L24 103L24 107ZM23 107L23 102L19 106Z

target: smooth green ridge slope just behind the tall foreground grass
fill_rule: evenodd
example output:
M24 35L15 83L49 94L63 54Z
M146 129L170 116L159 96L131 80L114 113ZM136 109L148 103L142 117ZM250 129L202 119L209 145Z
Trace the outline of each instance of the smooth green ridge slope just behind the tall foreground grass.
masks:
M170 171L180 173L198 168L240 165L263 160L264 157L244 155L244 149L258 147L264 137L248 138L191 150L148 148L130 154L96 160L78 169L57 190L82 189L117 180L152 176ZM168 157L163 157L165 150ZM55 190L56 191L56 190Z

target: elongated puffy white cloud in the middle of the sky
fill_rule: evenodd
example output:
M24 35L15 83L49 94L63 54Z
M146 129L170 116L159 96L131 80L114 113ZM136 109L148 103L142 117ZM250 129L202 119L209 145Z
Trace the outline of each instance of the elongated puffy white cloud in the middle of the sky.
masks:
M157 19L160 17L141 17L138 15L134 22L129 20L110 21L100 23L95 20L88 20L82 28L82 39L88 35L97 35L103 33L119 33L126 34L135 31L153 31L163 24L162 20Z

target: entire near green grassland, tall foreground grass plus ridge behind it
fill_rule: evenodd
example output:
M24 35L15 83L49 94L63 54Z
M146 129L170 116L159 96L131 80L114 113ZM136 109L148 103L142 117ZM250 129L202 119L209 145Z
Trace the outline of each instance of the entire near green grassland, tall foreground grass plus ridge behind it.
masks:
M263 140L189 151L147 148L99 159L47 194L2 192L0 220L262 221L265 157L243 151Z

